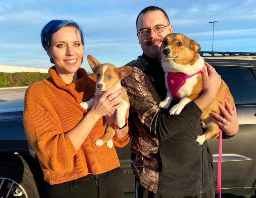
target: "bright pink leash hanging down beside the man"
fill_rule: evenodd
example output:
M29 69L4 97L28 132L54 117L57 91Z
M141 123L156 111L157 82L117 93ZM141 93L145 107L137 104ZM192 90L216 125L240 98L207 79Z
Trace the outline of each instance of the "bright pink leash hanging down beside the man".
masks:
M227 90L226 90L225 99L228 99ZM218 168L217 168L217 191L218 191L218 198L221 198L221 159L222 159L222 129L220 128L219 156L218 156Z

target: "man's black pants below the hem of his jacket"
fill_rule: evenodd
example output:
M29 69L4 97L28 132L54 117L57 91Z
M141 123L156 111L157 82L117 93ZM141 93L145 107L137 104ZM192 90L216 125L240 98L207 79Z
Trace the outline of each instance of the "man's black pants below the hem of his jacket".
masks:
M172 195L160 195L158 193L153 193L146 190L139 184L135 178L135 198L214 198L214 187L207 193L202 193L201 195L195 196L172 196Z

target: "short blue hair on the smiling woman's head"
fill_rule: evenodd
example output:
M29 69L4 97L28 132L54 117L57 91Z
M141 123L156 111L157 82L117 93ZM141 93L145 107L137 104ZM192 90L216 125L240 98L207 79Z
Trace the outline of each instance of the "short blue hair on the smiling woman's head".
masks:
M51 46L51 35L53 35L53 33L57 32L64 26L75 27L81 35L81 42L84 46L84 36L82 33L82 28L76 22L74 22L73 20L51 20L43 27L41 31L41 42L44 49L47 49ZM50 61L54 64L52 58L50 58Z

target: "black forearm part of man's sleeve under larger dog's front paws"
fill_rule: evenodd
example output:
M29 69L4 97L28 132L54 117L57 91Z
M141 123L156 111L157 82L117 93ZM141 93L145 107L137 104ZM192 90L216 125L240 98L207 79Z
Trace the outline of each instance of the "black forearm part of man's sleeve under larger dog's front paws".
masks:
M155 130L151 131L154 132L153 135L158 140L166 140L183 131L192 122L200 118L201 114L201 109L193 101L188 103L178 116L170 115L168 109L161 109L158 116L155 117Z

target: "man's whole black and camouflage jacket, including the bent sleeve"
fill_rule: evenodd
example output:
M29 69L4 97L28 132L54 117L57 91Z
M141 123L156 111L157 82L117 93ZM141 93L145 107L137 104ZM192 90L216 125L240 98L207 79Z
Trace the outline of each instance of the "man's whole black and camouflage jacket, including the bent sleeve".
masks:
M166 97L164 71L158 60L139 56L127 65L132 73L122 80L130 101L133 124L132 167L140 184L153 192L199 195L214 185L212 154L207 141L200 146L201 109L191 101L170 115L158 103ZM172 101L170 107L176 104Z

